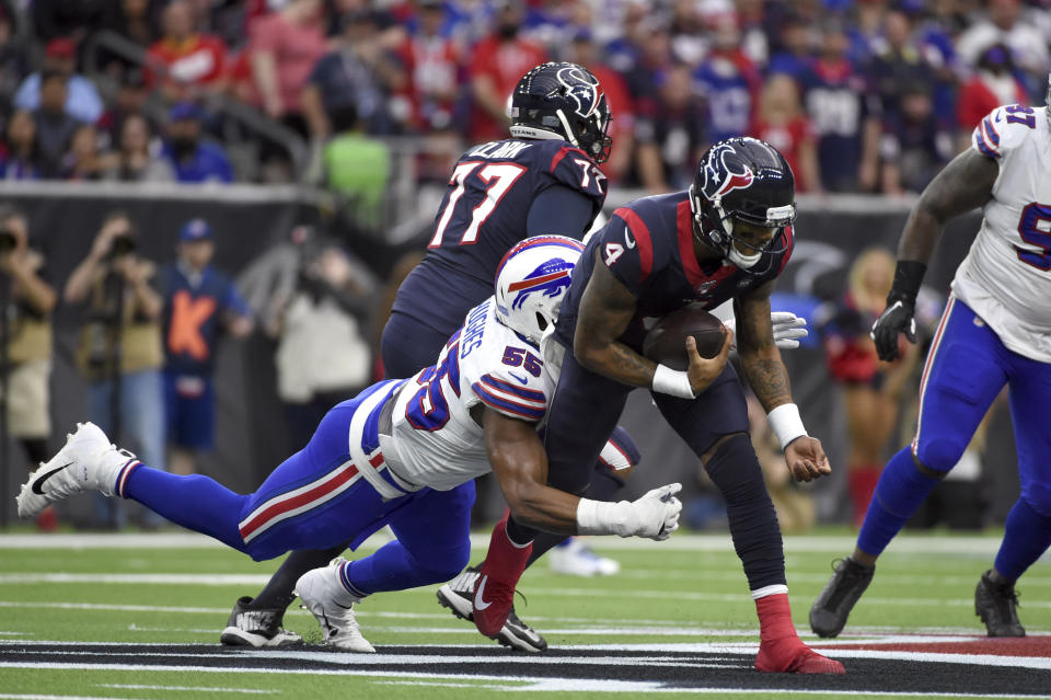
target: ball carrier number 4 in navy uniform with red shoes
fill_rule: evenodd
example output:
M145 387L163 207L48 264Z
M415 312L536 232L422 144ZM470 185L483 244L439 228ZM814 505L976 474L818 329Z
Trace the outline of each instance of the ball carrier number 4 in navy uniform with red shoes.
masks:
M555 343L545 348L548 367L557 356L563 359L544 447L548 483L586 493L586 467L616 425L627 394L648 388L726 500L734 547L760 620L755 667L842 674L843 665L805 645L792 623L777 517L749 439L744 392L726 363L732 333L713 359L703 359L688 338L684 371L640 354L647 318L695 301L715 308L732 299L741 367L767 411L788 469L799 481L830 473L820 440L807 435L793 403L770 314L774 279L792 254L794 198L792 169L779 152L757 139L732 138L702 157L689 191L614 211L581 255L555 323ZM596 503L586 506L594 513L578 514L580 533L612 506ZM513 519L494 530L473 596L483 634L504 624L536 535Z

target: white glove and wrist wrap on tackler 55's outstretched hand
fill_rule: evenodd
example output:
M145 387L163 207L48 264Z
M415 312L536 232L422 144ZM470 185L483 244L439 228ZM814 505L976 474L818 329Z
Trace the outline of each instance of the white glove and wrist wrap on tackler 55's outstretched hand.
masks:
M577 506L577 531L580 535L620 535L666 540L679 529L682 502L675 494L680 491L682 484L668 484L654 489L631 503L580 498Z

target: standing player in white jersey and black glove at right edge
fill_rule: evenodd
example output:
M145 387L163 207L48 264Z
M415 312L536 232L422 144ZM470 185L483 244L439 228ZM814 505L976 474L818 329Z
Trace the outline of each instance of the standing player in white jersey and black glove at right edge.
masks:
M1051 104L1051 78L1048 100ZM989 114L923 191L898 248L887 310L873 325L881 359L898 334L916 341L916 294L938 237L982 207L981 229L956 271L920 385L912 444L883 469L854 553L836 566L810 609L810 627L835 636L865 592L876 559L959 461L1004 385L1018 447L1021 495L1007 516L974 609L990 636L1024 636L1015 582L1051 544L1051 112L1009 105Z

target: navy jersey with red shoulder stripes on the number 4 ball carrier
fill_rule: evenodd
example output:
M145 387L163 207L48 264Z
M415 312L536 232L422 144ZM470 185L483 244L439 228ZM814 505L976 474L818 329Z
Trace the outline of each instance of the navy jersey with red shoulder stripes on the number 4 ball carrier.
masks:
M763 253L754 273L724 260L697 261L688 194L636 199L616 209L610 222L588 242L558 312L558 336L573 346L580 298L594 271L596 251L613 276L635 296L635 318L620 340L637 351L646 335L644 319L662 317L694 301L714 309L761 287L785 268L792 246L789 226L770 244L771 251L778 252Z

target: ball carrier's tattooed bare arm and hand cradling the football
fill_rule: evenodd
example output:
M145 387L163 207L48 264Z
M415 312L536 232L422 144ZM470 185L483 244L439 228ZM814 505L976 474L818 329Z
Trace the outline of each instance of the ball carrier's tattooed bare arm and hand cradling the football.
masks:
M643 357L619 338L635 315L635 297L613 276L601 252L596 251L594 272L580 299L573 352L584 367L632 387L651 387L657 363ZM767 318L767 322L770 319ZM723 372L732 344L728 332L723 351L712 359L702 358L696 343L686 338L690 355L690 385L700 393Z

